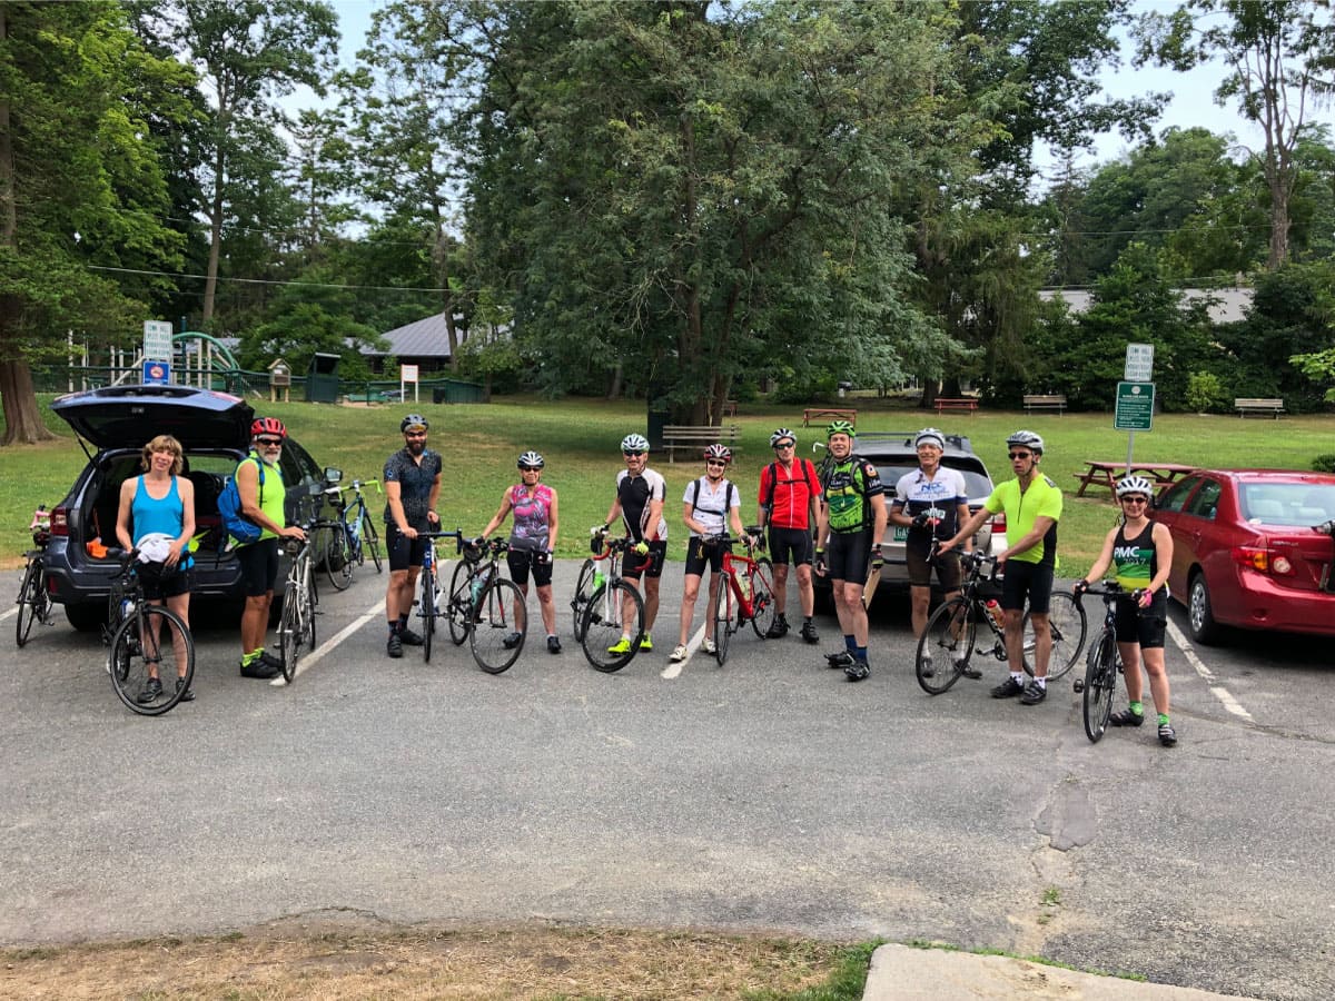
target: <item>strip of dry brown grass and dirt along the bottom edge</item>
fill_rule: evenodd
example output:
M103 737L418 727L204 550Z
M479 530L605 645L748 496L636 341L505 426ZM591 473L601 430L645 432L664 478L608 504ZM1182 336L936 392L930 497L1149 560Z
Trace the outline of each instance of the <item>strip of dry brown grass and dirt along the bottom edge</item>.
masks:
M829 942L686 932L391 928L290 918L211 938L0 950L4 998L740 998L826 982Z

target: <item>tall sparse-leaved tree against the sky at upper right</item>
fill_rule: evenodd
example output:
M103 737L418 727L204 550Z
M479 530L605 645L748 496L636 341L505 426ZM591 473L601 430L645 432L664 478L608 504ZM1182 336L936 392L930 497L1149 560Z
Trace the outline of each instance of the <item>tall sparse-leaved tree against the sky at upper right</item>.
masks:
M1175 69L1220 59L1228 72L1215 103L1234 100L1262 131L1254 153L1270 191L1274 271L1288 259L1290 200L1298 180L1295 149L1312 108L1335 92L1335 24L1311 0L1189 0L1171 15L1140 20L1137 63Z

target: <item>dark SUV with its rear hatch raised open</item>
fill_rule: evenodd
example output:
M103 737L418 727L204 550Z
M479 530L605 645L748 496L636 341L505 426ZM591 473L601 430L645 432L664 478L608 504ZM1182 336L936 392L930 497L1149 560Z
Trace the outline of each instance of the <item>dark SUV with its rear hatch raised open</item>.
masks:
M172 435L186 450L182 475L195 484L196 534L212 530L195 553L191 594L240 602L240 567L216 545L222 531L218 495L250 447L255 418L250 404L191 386L109 386L59 396L51 408L75 430L88 455L69 494L51 513L47 549L51 597L65 606L69 625L93 630L107 621L116 563L107 558L104 546L117 545L120 484L143 471L143 448L160 434ZM287 487L288 522L296 521L299 506L318 510L326 474L291 436L283 443L279 468Z

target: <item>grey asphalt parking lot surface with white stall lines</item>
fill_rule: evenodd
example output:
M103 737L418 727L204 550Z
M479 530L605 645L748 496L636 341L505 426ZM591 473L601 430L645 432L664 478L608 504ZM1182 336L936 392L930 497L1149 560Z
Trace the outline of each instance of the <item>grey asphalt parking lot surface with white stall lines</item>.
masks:
M865 682L824 669L830 617L816 647L745 630L725 666L697 651L677 667L669 565L658 649L599 674L561 606L577 570L557 567L565 651L530 642L498 677L447 643L430 665L388 661L368 570L322 594L320 646L291 687L240 678L235 631L200 615L199 699L159 719L115 699L95 637L57 614L15 650L8 611L0 941L339 909L880 937L1335 997L1322 643L1175 642L1179 746L1091 745L1067 685L1036 707L989 699L995 662L925 695L893 594Z

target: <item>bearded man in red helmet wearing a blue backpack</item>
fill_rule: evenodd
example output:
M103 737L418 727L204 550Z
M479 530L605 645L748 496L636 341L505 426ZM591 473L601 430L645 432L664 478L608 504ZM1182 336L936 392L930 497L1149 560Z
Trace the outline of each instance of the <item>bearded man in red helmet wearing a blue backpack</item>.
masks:
M255 418L251 423L251 454L242 459L234 476L242 499L242 517L260 527L255 542L236 547L236 561L242 565L246 582L246 609L242 611L242 677L275 678L283 662L264 649L268 627L268 606L274 601L278 581L278 541L304 539L300 526L287 525L283 471L283 439L287 427L278 418ZM260 483L260 466L264 482Z

